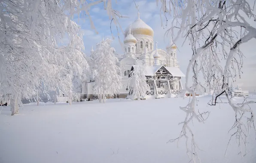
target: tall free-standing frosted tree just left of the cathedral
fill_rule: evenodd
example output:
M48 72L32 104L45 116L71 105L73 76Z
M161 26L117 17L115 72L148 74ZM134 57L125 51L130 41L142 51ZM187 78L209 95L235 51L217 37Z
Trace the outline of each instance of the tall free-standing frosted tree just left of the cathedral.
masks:
M120 67L117 66L118 58L115 49L110 46L111 43L111 39L102 40L96 45L96 50L91 56L95 82L93 91L100 103L105 103L107 96L113 97L119 94L122 88Z

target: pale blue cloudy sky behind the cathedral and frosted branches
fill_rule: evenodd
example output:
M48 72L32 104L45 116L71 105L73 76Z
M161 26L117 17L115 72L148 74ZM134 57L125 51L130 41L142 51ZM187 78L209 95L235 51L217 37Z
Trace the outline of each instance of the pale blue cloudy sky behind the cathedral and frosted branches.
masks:
M154 42L158 42L158 48L165 49L166 45L169 42L169 37L165 37L166 29L161 27L161 19L159 15L159 6L156 6L155 0L135 0L137 4L140 5L140 18L148 24L154 30ZM114 1L113 1L114 2ZM137 19L137 9L135 8L134 2L132 0L117 0L117 4L113 4L113 8L126 15L129 18L119 19L119 23L122 27L122 30L125 29ZM102 37L112 38L110 32L110 19L107 16L106 11L103 9L103 5L96 6L91 8L91 18L93 23L98 31L98 34L95 30L91 29L90 21L87 17L81 18L78 21L78 18L73 20L79 24L85 33L84 35L84 44L85 44L85 54L90 55L91 46L94 46L96 43L100 42ZM168 21L168 26L170 26L171 17ZM256 22L250 21L251 26L256 27ZM163 18L163 24L166 25L166 20ZM115 36L112 46L116 49L116 52L120 55L123 54L122 47L118 40L118 34L115 24L112 24L112 32ZM120 40L123 41L122 31L119 29ZM180 69L184 74L186 74L187 64L191 58L191 48L189 44L182 46L183 39L180 38L175 43L178 47L177 58L180 63ZM250 42L240 46L241 51L243 51L246 58L244 58L244 66L242 71L242 78L238 79L234 86L239 85L243 89L250 91L256 90L256 40L253 39ZM184 85L184 79L183 85Z

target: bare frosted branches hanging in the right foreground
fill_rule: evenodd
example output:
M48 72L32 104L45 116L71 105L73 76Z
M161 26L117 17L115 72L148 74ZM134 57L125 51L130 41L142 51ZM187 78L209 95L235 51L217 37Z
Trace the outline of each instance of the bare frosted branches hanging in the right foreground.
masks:
M172 27L167 30L167 33L171 33L171 37L175 38L174 42L182 37L184 43L188 42L192 48L191 60L186 71L186 90L191 94L195 94L198 87L215 90L217 96L210 102L213 106L216 105L217 97L225 94L229 105L235 111L235 123L232 127L235 132L231 137L234 136L238 140L239 147L242 145L246 147L247 131L254 126L250 125L254 124L254 115L249 104L255 102L234 103L229 97L227 82L229 76L233 80L241 77L243 57L246 54L242 53L239 46L251 39L256 39L256 28L251 25L256 20L254 5L252 8L253 2L249 0L160 0L160 4L162 15L165 15L165 18L168 14L173 17ZM174 36L174 33L177 35ZM189 85L191 72L193 84ZM203 76L203 80L198 77L199 73ZM207 84L203 85L204 82ZM195 96L187 106L180 109L186 112L186 118L181 123L183 128L179 138L174 140L186 138L187 153L195 163L198 158L198 148L189 124L192 124L193 119L204 122L209 114L196 111ZM247 121L248 125L243 124L241 119ZM246 150L240 149L241 155L246 154Z

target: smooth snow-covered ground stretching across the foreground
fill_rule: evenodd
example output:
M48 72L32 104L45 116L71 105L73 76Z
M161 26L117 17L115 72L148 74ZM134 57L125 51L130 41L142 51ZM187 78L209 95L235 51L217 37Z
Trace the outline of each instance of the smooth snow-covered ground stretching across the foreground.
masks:
M10 116L9 107L0 107L0 163L188 163L184 139L178 148L177 143L167 143L180 133L178 123L185 113L179 106L188 100L24 105L15 116ZM208 106L209 100L198 97L200 111L210 111L206 123L190 125L202 163L256 163L253 132L245 157L238 155L232 139L225 159L235 113L226 103ZM256 114L256 105L252 109Z

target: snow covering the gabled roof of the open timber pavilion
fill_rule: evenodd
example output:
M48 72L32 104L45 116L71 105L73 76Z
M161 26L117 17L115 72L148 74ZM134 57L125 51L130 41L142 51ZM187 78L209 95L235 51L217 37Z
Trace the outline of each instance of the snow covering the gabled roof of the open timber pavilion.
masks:
M146 76L153 76L163 65L159 66L146 66ZM165 66L164 66L165 67ZM179 67L165 67L173 76L185 77L183 72L180 71Z

